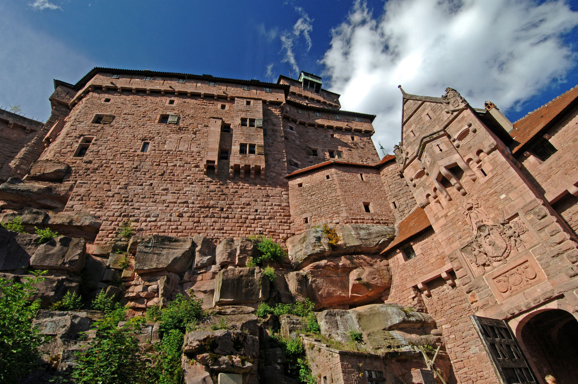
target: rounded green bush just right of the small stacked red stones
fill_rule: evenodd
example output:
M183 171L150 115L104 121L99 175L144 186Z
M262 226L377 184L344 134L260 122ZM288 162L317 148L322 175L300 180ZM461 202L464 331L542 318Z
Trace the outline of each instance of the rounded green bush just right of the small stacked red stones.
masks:
M203 311L203 300L192 296L186 298L178 294L174 301L169 302L165 309L162 309L160 317L161 325L159 330L166 333L172 329L177 329L184 333L187 325L196 322L205 316Z

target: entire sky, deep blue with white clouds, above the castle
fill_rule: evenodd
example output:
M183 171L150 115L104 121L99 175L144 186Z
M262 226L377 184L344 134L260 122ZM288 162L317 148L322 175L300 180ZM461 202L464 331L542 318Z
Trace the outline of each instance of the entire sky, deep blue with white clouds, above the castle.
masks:
M46 119L52 79L92 67L275 81L324 76L344 109L399 141L401 97L456 88L510 120L578 84L578 0L3 0L0 105Z

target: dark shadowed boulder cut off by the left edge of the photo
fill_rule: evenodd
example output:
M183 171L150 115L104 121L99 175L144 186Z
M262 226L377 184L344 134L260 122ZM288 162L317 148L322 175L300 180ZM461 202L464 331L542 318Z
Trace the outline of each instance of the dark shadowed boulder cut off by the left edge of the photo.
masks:
M38 235L29 235L0 228L0 271L23 269L38 249Z

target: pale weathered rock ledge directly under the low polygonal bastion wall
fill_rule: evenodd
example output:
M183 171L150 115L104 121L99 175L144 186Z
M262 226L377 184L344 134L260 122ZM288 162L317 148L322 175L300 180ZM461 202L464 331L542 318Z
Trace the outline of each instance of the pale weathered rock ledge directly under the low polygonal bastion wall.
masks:
M377 224L345 224L334 228L342 240L329 243L323 228L316 227L287 239L292 267L301 269L318 260L346 254L376 254L395 237L395 228Z

